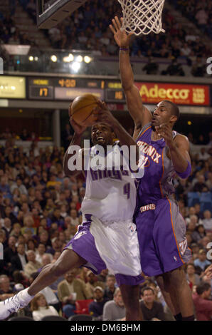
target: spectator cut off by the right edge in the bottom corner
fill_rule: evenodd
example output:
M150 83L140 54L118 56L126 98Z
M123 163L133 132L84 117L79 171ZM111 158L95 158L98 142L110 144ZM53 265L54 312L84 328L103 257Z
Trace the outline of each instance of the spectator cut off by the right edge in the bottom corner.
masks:
M196 294L193 294L193 301L196 311L197 321L211 321L212 301L209 300L211 295L211 285L203 282L196 287Z

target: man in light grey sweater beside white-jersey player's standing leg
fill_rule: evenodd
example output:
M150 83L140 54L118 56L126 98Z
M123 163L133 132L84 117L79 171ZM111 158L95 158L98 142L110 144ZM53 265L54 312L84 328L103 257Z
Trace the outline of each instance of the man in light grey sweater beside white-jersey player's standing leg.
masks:
M126 309L120 288L115 290L113 300L107 301L103 307L103 321L125 321Z

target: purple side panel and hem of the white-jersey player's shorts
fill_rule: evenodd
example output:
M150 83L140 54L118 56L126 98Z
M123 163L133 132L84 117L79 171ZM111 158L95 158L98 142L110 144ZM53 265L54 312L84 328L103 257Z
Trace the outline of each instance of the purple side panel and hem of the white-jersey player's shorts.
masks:
M80 257L83 257L87 263L83 267L88 267L95 274L100 274L102 269L107 269L107 265L100 257L95 246L95 239L90 232L91 215L85 215L86 222L78 226L78 232L70 239L70 242L64 249L71 249ZM117 284L137 285L143 282L142 276L127 276L124 274L115 274Z

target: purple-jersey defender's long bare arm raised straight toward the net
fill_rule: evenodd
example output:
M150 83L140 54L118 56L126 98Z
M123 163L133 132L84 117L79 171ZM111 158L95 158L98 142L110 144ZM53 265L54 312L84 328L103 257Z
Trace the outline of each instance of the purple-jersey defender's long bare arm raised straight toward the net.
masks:
M127 35L126 31L121 29L121 21L115 16L115 19L112 19L110 29L114 34L117 45L120 47L120 76L127 100L127 108L134 120L135 130L138 130L136 133L139 133L139 130L152 120L152 114L144 107L139 90L134 85L134 74L129 60L129 41L132 33Z

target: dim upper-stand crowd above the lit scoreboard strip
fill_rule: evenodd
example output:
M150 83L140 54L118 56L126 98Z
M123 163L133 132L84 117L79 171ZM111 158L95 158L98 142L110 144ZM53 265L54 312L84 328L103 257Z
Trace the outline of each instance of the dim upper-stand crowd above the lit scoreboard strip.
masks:
M35 0L20 0L19 2L36 22ZM175 0L175 4L177 9L184 8L184 14L187 13L192 19L196 17L201 31L211 31L211 24L208 22L211 20L210 1L205 0L198 4L198 1L195 0ZM203 12L207 16L206 24L203 24L202 21ZM94 56L117 56L118 48L109 29L109 24L115 15L122 15L118 1L107 1L104 3L104 8L100 0L89 1L57 26L44 30L44 33L50 39L53 48L86 50L92 52ZM176 21L166 7L162 21L166 33L158 35L150 33L148 36L132 38L132 56L166 58L171 61L166 70L160 73L158 66L151 65L150 72L147 68L147 73L150 74L185 76L181 67L181 63L185 63L191 67L192 76L206 75L206 59L211 56L211 45L203 42L201 33L196 35L194 29L182 26ZM28 40L26 33L21 34L18 31L13 16L9 14L3 16L1 25L0 40L4 43L30 43L36 46L33 41Z

